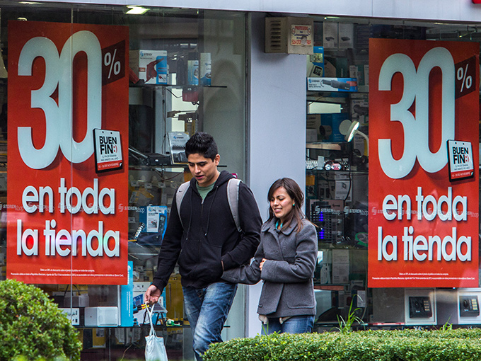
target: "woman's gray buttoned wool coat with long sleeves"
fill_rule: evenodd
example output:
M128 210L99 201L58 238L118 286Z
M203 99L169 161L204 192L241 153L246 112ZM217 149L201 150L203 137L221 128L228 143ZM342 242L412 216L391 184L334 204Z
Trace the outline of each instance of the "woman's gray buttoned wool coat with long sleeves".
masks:
M228 282L254 285L262 280L257 313L268 317L315 315L313 274L318 256L315 227L306 219L296 231L295 220L277 231L276 219L262 224L260 245L250 265L227 270ZM260 271L259 264L266 258Z

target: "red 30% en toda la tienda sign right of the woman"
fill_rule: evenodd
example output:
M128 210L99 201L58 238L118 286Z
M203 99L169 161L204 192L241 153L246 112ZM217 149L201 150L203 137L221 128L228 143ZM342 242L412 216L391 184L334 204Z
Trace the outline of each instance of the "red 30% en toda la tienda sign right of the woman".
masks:
M369 42L369 287L478 285L479 51Z

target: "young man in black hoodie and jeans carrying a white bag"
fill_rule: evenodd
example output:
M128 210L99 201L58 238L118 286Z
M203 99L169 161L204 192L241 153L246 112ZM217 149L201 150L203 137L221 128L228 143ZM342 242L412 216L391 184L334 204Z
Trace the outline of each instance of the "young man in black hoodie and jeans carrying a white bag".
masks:
M185 314L192 328L197 360L210 343L221 342L221 331L236 295L237 285L221 280L224 270L248 264L260 241L262 220L253 193L238 189L240 229L228 203L231 173L219 173L220 156L211 135L195 133L185 144L192 173L180 212L173 199L170 218L158 255L156 275L146 291L146 304L157 302L175 263L184 292ZM180 213L180 217L179 217Z

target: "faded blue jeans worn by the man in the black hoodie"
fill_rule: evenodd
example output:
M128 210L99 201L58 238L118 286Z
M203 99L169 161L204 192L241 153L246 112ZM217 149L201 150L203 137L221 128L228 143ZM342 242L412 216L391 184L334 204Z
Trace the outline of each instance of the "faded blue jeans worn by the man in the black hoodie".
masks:
M237 285L216 282L205 288L182 287L185 314L190 322L197 360L211 343L222 342L221 331L231 309Z

